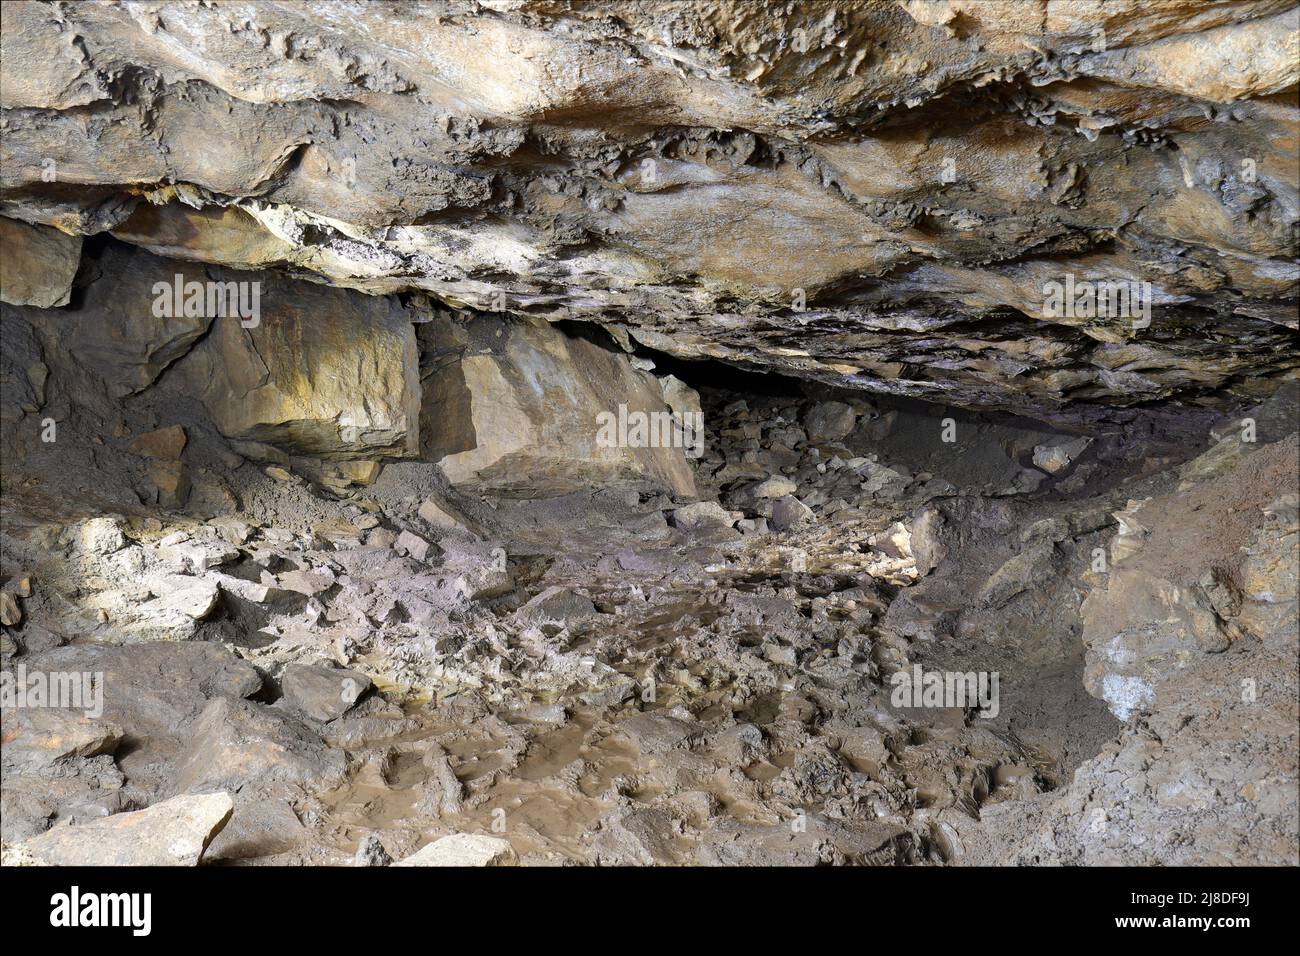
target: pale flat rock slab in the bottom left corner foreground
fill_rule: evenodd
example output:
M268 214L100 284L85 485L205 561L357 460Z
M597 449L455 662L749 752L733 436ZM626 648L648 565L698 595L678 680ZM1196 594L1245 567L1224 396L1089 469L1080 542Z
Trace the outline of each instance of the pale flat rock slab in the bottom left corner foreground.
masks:
M23 845L32 860L52 866L196 866L233 810L229 793L185 795L58 827Z

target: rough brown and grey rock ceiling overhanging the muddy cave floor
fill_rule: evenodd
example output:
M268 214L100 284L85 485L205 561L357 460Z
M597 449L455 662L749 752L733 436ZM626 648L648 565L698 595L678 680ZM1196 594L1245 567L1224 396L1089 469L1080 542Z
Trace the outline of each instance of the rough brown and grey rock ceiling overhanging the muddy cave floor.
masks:
M1287 0L18 1L4 27L0 212L70 235L1039 414L1295 363ZM1050 308L1067 281L1149 286Z

